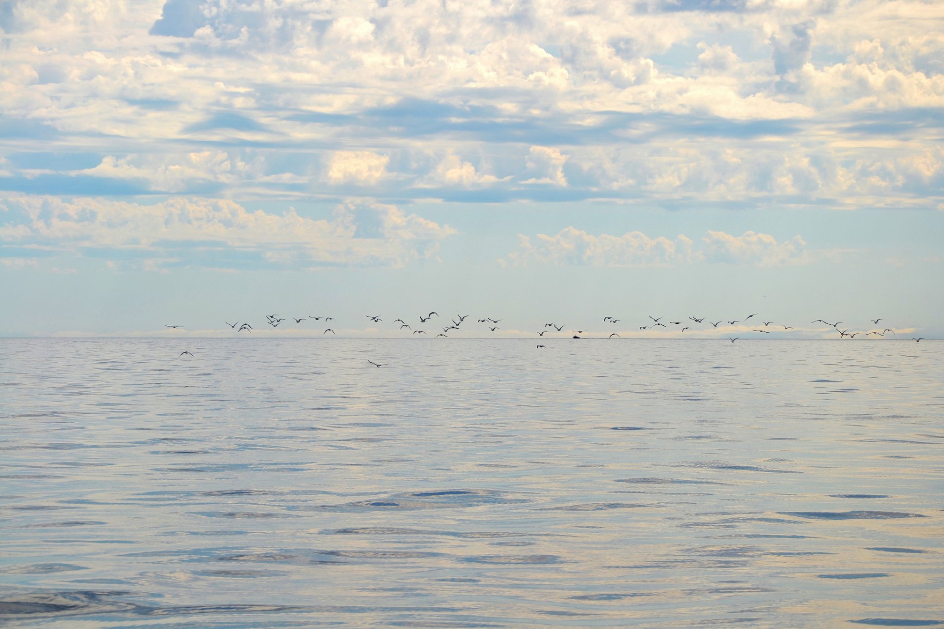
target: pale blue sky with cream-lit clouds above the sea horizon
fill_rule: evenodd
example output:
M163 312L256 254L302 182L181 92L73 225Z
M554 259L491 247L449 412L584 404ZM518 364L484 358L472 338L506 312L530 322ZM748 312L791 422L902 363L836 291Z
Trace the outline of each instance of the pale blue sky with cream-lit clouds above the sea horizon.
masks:
M940 338L942 130L939 1L0 0L0 336Z

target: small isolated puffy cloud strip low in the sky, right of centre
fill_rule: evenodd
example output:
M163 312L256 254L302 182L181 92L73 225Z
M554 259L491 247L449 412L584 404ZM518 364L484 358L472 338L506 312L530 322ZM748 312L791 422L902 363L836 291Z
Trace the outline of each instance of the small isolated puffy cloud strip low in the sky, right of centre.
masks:
M727 262L755 266L780 266L813 261L800 236L778 242L768 234L746 232L733 236L709 231L702 247L680 234L674 240L650 238L634 231L622 236L594 236L566 227L555 236L519 235L518 249L499 262L502 265L550 264L554 266L664 266L689 262Z

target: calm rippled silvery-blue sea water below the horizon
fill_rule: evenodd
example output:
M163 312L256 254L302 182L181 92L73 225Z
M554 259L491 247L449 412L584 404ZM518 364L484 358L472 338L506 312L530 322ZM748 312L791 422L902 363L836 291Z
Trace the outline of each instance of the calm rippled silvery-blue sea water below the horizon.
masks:
M542 342L0 340L0 624L944 625L944 343Z

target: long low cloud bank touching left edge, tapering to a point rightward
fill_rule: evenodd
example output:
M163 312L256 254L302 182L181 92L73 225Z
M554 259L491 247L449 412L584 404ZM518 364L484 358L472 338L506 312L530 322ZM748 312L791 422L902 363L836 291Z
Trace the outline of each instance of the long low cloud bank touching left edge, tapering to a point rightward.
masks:
M296 267L402 266L433 256L455 233L397 207L363 202L336 207L330 220L300 216L294 208L276 214L222 199L179 197L153 205L10 197L3 207L0 243L113 251L152 265L226 266L244 259Z

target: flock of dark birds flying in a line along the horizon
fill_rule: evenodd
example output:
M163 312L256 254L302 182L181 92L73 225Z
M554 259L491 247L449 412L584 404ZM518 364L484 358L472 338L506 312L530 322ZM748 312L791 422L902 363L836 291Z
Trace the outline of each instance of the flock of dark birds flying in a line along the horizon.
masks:
M733 320L728 321L728 320L725 320L725 319L720 319L720 320L718 320L718 321L716 321L716 322L713 322L713 321L710 321L710 320L709 320L706 324L702 325L702 329L709 329L709 328L707 328L707 325L710 325L711 327L716 328L716 327L717 327L719 324L721 324L721 323L727 323L728 325L732 325L732 326L735 325L735 324L737 324L737 323L747 323L747 322L749 322L751 319L753 319L754 317L757 317L758 314L759 314L759 313L755 312L755 313L753 313L753 314L748 315L748 316L745 317L743 320L733 319ZM382 315L365 315L365 316L366 316L366 318L367 318L371 323L381 323L381 322L383 322L383 319L381 318ZM419 323L421 323L421 324L422 324L422 323L430 323L430 322L432 322L433 317L436 317L437 323L443 323L442 319L440 319L439 313L438 313L438 312L435 312L435 311L430 311L430 313L427 314L426 316L419 315ZM438 324L437 324L437 329L438 329L438 328L441 328L441 329L442 329L442 332L439 332L438 334L436 334L436 338L439 338L439 337L448 338L448 333L449 333L450 331L452 331L452 330L460 330L462 324L464 323L464 321L465 321L466 319L468 319L468 317L469 317L469 315L457 315L457 316L456 316L456 319L449 319L449 321L448 321L449 324L447 324L447 325L438 325ZM640 330L655 330L655 329L657 329L657 328L659 328L659 327L663 327L663 328L666 328L666 329L676 329L676 330L679 330L680 332L685 332L686 330L694 329L694 328L693 328L694 325L696 325L696 324L701 324L702 322L705 321L706 318L705 318L705 317L701 317L701 318L698 318L698 317L688 317L687 319L685 319L685 320L683 320L683 321L666 321L666 323L662 323L662 320L663 320L663 319L665 319L665 317L653 317L653 316L649 315L649 320L650 320L650 321L649 321L649 322L646 322L645 325L640 325L640 326L639 326L639 329L640 329ZM294 321L295 324L300 324L300 323L307 322L307 321L324 322L324 324L328 324L328 322L334 321L334 317L326 317L326 316L320 316L320 317L314 317L314 316L307 316L307 317L291 317L291 320ZM270 315L266 315L266 316L265 316L265 321L266 321L266 323L268 323L269 325L271 325L271 326L275 329L275 328L278 328L278 326L279 326L282 322L288 321L288 319L285 319L285 318L283 318L283 317L279 317L279 316L276 315L276 314L270 314ZM503 320L501 320L501 319L493 319L493 318L491 318L491 317L484 317L484 318L482 318L482 319L479 319L479 320L478 320L478 323L484 323L484 324L485 324L485 327L488 328L488 330L491 331L491 332L494 334L494 333L496 332L496 330L501 329L501 328L497 325L497 323L499 323L499 322L501 322L501 321L503 321ZM603 323L610 324L610 325L613 325L613 324L615 324L615 323L620 323L621 321L622 321L622 320L617 319L617 318L615 318L615 317L609 317L609 316L608 316L608 317L603 317ZM880 318L878 318L878 319L869 319L869 321L870 321L871 323L873 323L874 325L878 325L879 322L885 321L885 319L883 319L883 318L880 317ZM689 322L691 322L691 323L689 323ZM236 330L236 333L237 333L237 334L243 333L243 332L245 332L245 333L247 333L247 334L252 334L252 331L253 331L253 329L254 329L251 323L239 323L238 321L237 321L236 323L229 323L229 322L225 322L225 323L226 323L230 328ZM417 326L417 327L414 329L414 328L413 328L413 325L411 325L410 323L406 323L403 319L395 319L395 320L393 321L393 323L395 323L395 324L398 323L398 324L399 324L399 327L398 327L397 329L403 330L403 329L405 328L406 330L408 330L408 331L409 331L410 333L412 333L413 335L427 335L427 334L428 334L425 329L420 329L419 326ZM763 321L762 319L756 319L756 320L754 320L754 322L752 323L753 325L756 325L756 327L751 327L750 329L751 329L751 331L757 332L757 333L759 333L759 334L769 334L771 330L765 329L765 328L770 327L770 326L774 326L773 329L776 330L776 331L784 331L784 332L785 332L786 330L793 330L793 329L795 329L795 327L792 326L792 325L787 325L787 324L785 324L785 323L776 323L776 325L783 326L784 329L783 329L783 330L780 330L778 327L776 327L775 323L776 323L776 322L773 322L773 321ZM812 321L812 322L810 322L810 323L823 323L824 325L829 325L830 327L833 327L833 328L835 329L835 331L839 334L839 338L840 338L840 339L845 339L845 338L847 338L847 337L848 337L849 339L855 339L855 337L857 337L857 336L859 336L859 335L862 335L863 338L865 338L865 337L870 337L870 336L872 336L872 335L878 336L878 337L885 337L885 334L887 334L887 333L889 333L889 332L891 332L892 334L896 334L895 330L894 330L893 328L890 328L890 327L886 327L886 328L883 329L883 330L875 329L875 330L871 330L871 331L869 331L869 332L863 332L863 331L850 332L849 328L846 328L846 329L844 329L844 330L840 330L840 329L839 329L839 325L842 324L841 321L840 321L840 322L835 322L835 323L829 323L829 322L825 321L824 319L817 319L816 321ZM239 326L238 328L236 327L237 325ZM673 326L673 327L669 327L669 326ZM679 327L679 326L682 326L682 327ZM173 329L181 329L181 328L183 328L182 325L165 325L164 327L169 327L169 328L173 328ZM564 331L564 327L565 327L565 323L562 323L562 324L560 324L560 325L558 325L557 323L545 323L545 324L544 324L544 328L545 328L545 329L543 329L543 330L538 330L537 332L535 332L535 334L537 334L538 338L543 338L545 334L548 334L548 332L551 332L551 330L548 330L548 328L551 328L551 329L553 330L553 332L558 332L558 333L560 333L560 332L563 332L563 331ZM435 331L435 330L430 330L430 332L433 332L433 331ZM580 335L584 334L586 331L587 331L587 330L585 330L585 329L584 329L584 330L570 330L570 331L567 332L566 334L573 334L573 336L571 337L571 339L581 339L582 337L581 337ZM336 335L336 334L337 334L331 327L326 327L326 328L325 328L325 331L322 333L322 336L325 336L325 335L327 335L328 333L331 333L332 335ZM603 334L605 335L606 333L603 332ZM430 336L431 336L431 335L430 335ZM606 338L607 338L607 339L613 339L613 338L617 338L617 339L618 339L618 338L621 338L621 337L619 336L618 333L612 332L612 333L610 333L610 335L607 336ZM728 339L731 340L731 342L734 342L734 341L736 341L736 340L741 339L741 337L728 337ZM914 340L915 342L920 342L920 341L923 340L923 339L924 339L924 337L912 338L912 340ZM541 344L538 344L538 345L537 345L537 348L538 348L538 349L541 349L541 348L544 348L544 347L545 347L545 345L541 345ZM190 352L181 352L181 353L180 353L180 356L185 356L185 355L187 355L187 356L194 356L194 355L191 354ZM379 364L379 363L376 363L376 362L373 362L373 361L370 361L370 360L368 360L367 362L369 362L371 365L373 365L373 366L375 366L375 367L383 367L383 366L384 366L383 364Z

